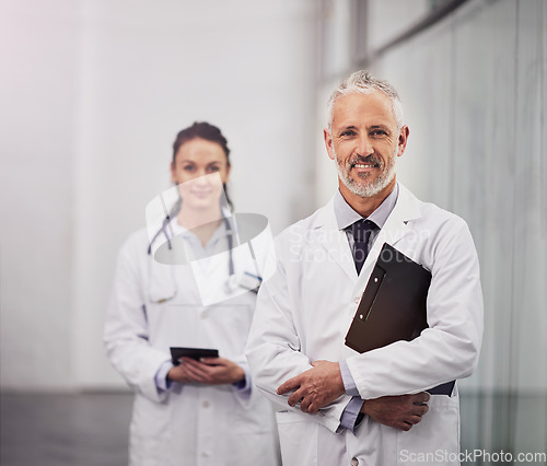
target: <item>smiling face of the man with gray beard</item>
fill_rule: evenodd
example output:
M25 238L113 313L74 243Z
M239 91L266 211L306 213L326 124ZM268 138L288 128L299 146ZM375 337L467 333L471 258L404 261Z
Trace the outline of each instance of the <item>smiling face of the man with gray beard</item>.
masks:
M408 127L397 130L389 98L380 91L339 97L325 144L335 160L340 190L365 198L388 193L395 184L395 161L405 151ZM346 188L346 189L345 189Z

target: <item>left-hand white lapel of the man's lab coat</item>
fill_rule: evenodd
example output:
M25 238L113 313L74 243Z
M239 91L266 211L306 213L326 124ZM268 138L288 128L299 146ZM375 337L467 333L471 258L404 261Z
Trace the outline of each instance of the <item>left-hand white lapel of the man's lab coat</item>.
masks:
M348 278L356 282L358 279L356 264L353 263L346 232L338 230L334 198L323 208L322 215L314 225L314 230L317 234L317 242L327 251L327 254L333 258L333 263L338 264Z

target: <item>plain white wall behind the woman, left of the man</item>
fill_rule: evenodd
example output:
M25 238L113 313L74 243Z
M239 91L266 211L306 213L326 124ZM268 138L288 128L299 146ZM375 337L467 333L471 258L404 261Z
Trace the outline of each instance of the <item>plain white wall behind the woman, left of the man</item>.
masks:
M0 18L1 386L120 387L101 340L114 260L179 129L225 133L237 211L276 232L310 211L315 4L12 0Z

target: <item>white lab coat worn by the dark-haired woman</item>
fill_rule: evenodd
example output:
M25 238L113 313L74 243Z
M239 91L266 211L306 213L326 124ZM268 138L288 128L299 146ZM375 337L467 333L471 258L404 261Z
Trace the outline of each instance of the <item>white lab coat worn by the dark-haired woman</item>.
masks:
M196 273L223 287L228 261L212 269L161 265L148 247L146 231L123 246L104 333L110 362L136 392L130 465L277 464L271 404L255 387L245 395L232 385L175 383L165 392L154 381L171 359L171 346L217 348L221 357L246 366L256 294L226 294L205 306ZM234 267L236 275L244 271L236 254Z

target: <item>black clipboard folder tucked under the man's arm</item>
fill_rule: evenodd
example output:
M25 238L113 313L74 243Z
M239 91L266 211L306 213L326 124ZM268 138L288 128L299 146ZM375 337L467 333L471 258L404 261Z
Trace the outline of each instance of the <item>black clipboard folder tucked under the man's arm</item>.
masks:
M346 346L363 353L399 340L414 340L428 327L431 273L395 247L384 243L346 335ZM451 395L455 381L431 389Z

